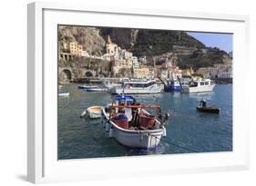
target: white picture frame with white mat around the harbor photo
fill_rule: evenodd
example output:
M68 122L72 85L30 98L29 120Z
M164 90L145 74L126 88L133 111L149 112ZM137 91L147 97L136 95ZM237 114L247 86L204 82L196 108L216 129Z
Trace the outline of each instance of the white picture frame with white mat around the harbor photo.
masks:
M91 19L86 19L90 17ZM104 15L104 16L103 16ZM114 20L114 21L113 21ZM136 21L135 21L136 20ZM141 27L234 34L233 151L57 161L56 24ZM249 169L249 122L242 92L248 65L249 17L166 10L32 3L27 14L27 180L83 181L200 171ZM242 77L242 78L241 78ZM244 97L244 100L240 99ZM239 108L244 108L241 111ZM125 161L124 161L125 160ZM134 169L135 164L139 166ZM120 163L122 169L120 169ZM167 166L163 166L167 165ZM100 167L100 169L99 169Z

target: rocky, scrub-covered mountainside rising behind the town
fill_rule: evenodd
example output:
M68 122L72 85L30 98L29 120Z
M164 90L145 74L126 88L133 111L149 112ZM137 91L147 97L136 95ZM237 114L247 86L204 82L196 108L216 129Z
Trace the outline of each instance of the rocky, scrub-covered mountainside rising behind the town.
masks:
M60 25L58 41L60 51L68 52L64 44L77 41L83 44L88 54L105 54L106 39L121 48L131 51L135 56L152 56L175 52L174 45L195 48L191 54L178 54L177 64L181 68L199 68L231 60L229 54L218 48L208 48L199 40L183 31L145 30L133 28L87 27ZM205 50L202 50L205 49ZM184 49L185 50L185 49ZM204 52L203 52L204 51Z

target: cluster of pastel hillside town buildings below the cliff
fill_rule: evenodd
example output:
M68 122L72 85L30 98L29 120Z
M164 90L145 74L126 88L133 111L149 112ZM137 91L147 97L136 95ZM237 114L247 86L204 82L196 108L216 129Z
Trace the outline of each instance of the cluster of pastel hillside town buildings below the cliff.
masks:
M119 76L122 71L125 71L124 73L133 78L146 79L154 79L156 77L160 77L163 80L177 79L177 76L190 76L193 73L198 73L203 75L205 78L211 79L232 78L231 62L215 64L213 67L202 67L196 72L194 72L192 69L181 70L174 63L177 60L177 54L175 52L159 56L161 57L161 61L165 61L164 64L157 65L156 59L153 58L153 63L148 65L146 56L139 58L134 56L131 52L127 51L126 49L122 49L120 46L118 46L118 44L113 43L109 35L106 43L106 54L103 54L102 56L88 54L87 51L83 49L83 45L78 44L77 42L64 44L64 47L67 48L70 53L67 54L59 52L59 58L68 60L68 58L72 58L74 55L76 55L79 57L109 61L111 63L111 73L113 76ZM185 48L186 50L184 47L182 48L182 46L175 47L178 47L177 50L181 50L183 52L185 51L189 54L194 50L192 47L189 47L189 49L187 47Z

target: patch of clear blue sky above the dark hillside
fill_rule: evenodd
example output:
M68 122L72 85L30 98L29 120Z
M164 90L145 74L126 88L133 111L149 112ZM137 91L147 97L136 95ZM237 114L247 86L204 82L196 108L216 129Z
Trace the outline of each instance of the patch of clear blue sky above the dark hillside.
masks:
M206 46L218 47L230 53L233 49L233 34L187 32Z

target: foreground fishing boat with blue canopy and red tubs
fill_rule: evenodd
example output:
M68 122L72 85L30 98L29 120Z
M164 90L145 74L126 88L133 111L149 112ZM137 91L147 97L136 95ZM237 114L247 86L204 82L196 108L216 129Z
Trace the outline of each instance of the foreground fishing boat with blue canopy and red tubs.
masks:
M146 109L159 110L159 119ZM116 141L130 148L155 148L166 136L168 113L161 114L159 105L143 105L132 96L117 95L115 103L103 110L103 126Z

